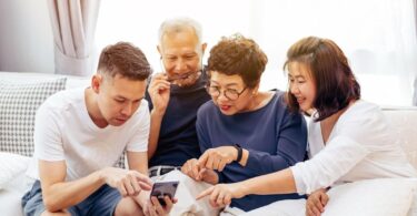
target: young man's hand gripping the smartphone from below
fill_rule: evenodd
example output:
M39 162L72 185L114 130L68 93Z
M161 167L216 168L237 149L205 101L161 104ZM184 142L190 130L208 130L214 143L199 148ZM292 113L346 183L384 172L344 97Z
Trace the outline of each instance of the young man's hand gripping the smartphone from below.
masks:
M162 206L156 196L152 196L143 208L143 214L146 216L165 216L169 215L172 209L173 204L178 200L177 198L170 199L169 196L163 197L166 206Z

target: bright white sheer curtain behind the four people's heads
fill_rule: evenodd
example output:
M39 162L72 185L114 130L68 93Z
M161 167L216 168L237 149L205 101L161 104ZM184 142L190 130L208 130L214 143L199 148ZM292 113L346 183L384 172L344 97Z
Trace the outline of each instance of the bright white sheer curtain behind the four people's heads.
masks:
M381 105L410 105L417 71L414 1L102 0L97 47L119 40L133 42L159 71L156 45L160 22L175 16L191 17L203 28L208 51L222 35L235 32L255 39L269 58L260 88L286 90L281 66L287 49L304 37L318 35L344 49L363 85L364 99Z

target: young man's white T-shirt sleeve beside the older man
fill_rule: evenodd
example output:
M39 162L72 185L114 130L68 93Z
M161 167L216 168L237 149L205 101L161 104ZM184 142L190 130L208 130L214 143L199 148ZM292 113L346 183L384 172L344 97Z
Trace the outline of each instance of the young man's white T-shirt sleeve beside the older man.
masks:
M129 152L148 151L148 138L150 130L150 115L147 101L142 101L136 116L133 135L129 141L126 150Z

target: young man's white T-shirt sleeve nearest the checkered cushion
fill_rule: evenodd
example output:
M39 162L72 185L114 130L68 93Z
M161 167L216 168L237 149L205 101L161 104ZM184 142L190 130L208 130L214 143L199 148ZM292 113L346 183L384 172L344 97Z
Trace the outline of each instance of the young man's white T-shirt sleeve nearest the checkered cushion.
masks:
M63 144L58 115L49 104L41 105L34 119L34 156L43 161L63 161Z

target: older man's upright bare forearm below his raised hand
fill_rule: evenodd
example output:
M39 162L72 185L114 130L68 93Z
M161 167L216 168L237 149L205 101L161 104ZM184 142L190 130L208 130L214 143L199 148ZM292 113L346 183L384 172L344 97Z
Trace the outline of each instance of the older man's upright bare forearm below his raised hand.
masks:
M148 142L148 158L150 160L157 151L159 132L161 128L163 113L159 113L155 110L150 112L150 132Z

